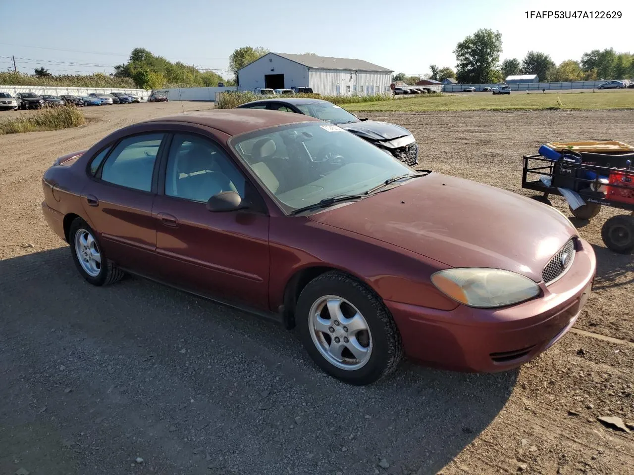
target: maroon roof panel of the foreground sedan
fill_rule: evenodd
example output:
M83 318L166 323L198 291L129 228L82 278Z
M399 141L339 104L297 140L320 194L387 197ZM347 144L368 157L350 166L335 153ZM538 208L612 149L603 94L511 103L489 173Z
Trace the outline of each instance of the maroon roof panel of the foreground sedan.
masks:
M325 101L324 101L325 102ZM289 114L288 112L262 109L218 109L209 111L191 111L167 117L153 118L152 122L187 122L220 130L230 136L268 129L277 125L299 124L301 122L321 122L308 115Z

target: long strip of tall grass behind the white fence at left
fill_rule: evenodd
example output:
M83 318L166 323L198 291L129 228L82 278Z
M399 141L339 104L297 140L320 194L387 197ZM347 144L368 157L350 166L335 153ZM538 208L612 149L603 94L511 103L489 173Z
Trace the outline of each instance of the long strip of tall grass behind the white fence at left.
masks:
M58 87L120 87L136 89L129 77L113 77L101 73L88 75L61 74L47 77L19 72L0 72L0 85L51 85Z

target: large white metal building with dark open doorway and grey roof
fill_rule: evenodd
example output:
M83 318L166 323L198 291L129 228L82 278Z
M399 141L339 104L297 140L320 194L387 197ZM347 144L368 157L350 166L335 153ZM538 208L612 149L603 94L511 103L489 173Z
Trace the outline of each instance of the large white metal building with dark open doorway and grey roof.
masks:
M323 96L380 94L390 92L393 72L363 60L268 53L238 70L238 87L312 87Z

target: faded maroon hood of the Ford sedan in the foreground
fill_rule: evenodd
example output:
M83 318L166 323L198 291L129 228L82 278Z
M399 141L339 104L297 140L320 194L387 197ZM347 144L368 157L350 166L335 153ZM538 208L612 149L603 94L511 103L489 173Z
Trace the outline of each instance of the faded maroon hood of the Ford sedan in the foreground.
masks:
M536 282L548 261L577 235L571 222L549 206L436 173L309 218L451 267L506 269Z

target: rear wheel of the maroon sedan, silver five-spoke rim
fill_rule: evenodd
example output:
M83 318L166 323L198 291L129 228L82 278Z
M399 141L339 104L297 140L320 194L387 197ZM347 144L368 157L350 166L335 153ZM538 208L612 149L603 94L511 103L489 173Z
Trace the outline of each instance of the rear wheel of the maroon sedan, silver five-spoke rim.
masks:
M95 286L113 284L124 276L101 249L96 233L81 218L75 219L68 232L70 252L79 273Z

